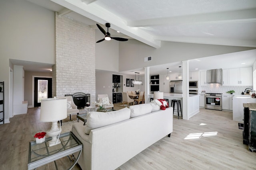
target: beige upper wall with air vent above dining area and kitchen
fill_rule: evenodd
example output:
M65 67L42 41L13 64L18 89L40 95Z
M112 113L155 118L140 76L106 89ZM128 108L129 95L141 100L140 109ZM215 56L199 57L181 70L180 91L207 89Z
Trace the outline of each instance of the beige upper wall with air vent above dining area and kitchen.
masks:
M133 70L146 66L174 63L250 49L255 48L166 41L162 41L161 47L155 49L137 40L129 39L129 41L119 44L119 71ZM152 56L152 61L144 62L144 57L148 56Z

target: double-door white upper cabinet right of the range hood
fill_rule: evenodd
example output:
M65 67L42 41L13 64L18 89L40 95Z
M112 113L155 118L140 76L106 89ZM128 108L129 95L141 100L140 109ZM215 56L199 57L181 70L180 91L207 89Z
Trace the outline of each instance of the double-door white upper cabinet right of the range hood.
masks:
M252 86L252 67L229 69L229 86Z

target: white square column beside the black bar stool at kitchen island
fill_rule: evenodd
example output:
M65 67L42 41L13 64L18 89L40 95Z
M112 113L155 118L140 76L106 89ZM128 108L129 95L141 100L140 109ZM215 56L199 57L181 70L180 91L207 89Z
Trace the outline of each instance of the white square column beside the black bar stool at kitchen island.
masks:
M189 61L182 61L182 119L188 120L188 97L189 97Z

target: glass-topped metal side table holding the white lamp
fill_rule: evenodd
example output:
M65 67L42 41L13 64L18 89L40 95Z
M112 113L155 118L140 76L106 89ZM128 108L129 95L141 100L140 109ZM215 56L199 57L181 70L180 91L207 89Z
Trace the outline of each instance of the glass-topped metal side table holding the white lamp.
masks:
M48 141L51 139L52 137L48 137L43 143L40 144L36 143L36 141L31 141L29 143L28 170L36 169L53 161L55 163L56 169L58 169L55 160L75 152L79 152L78 157L74 160L74 164L72 164L68 170L73 168L77 163L80 154L82 153L83 145L72 132L60 134L61 143L49 147Z

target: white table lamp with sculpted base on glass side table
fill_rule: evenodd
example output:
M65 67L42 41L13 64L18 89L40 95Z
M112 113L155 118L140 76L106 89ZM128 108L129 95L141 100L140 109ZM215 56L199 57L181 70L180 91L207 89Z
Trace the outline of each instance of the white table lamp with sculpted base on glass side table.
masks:
M46 135L52 137L49 146L60 143L57 136L60 135L61 129L58 127L58 121L67 118L67 99L66 98L48 98L41 101L40 121L52 122L52 128L46 131ZM60 125L61 126L61 125Z

